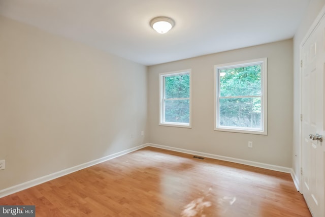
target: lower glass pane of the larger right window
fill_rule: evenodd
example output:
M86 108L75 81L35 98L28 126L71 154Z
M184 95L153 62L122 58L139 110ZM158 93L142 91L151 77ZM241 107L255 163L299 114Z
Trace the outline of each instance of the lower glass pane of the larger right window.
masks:
M220 126L261 128L261 98L219 99Z

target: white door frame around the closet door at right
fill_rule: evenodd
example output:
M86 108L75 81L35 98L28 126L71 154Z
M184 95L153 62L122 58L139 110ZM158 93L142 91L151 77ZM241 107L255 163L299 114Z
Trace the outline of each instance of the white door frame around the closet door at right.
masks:
M311 24L311 26L309 27L308 31L305 34L305 37L303 38L303 40L300 43L299 46L299 62L301 63L302 59L303 59L303 55L302 55L302 47L303 45L306 43L306 41L309 39L309 37L311 36L311 34L315 31L315 29L317 28L317 26L320 24L320 21L322 19L325 19L325 6L322 7L322 9L320 10L320 12L318 13L318 15L316 16L315 20L313 21L313 23ZM303 102L302 102L302 67L301 65L299 66L299 99L300 99L300 108L299 108L299 114L302 115L302 106L303 106ZM299 121L299 148L298 148L298 156L299 156L299 168L302 169L303 166L303 135L302 135L302 121L300 119ZM299 169L298 168L298 169ZM295 174L297 176L297 174ZM298 173L298 181L299 183L296 183L296 187L298 187L298 191L303 194L303 177L301 172ZM298 186L297 186L298 185Z

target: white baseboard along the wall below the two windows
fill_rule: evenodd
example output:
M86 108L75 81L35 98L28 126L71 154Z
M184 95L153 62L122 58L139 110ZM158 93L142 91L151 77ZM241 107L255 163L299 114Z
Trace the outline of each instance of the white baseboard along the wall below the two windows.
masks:
M172 150L172 151L177 151L177 152L182 152L182 153L188 153L188 154L193 154L193 155L198 155L206 158L212 158L212 159L217 159L221 161L229 161L233 163L238 163L238 164L244 164L248 166L253 166L253 167L259 167L259 168L264 168L264 169L269 169L269 170L274 170L274 171L279 171L279 172L284 172L284 173L291 173L291 168L288 167L281 167L277 165L272 165L272 164L264 164L264 163L259 163L255 161L247 161L247 160L242 160L242 159L237 159L237 158L230 158L230 157L225 157L225 156L220 156L217 154L211 154L211 153L206 153L206 152L200 152L200 151L192 151L192 150L187 150L187 149L182 149L182 148L174 148L170 146L165 146L165 145L158 145L158 144L153 144L153 143L147 143L148 146L151 147L156 147L156 148L161 148L161 149L166 149L166 150Z

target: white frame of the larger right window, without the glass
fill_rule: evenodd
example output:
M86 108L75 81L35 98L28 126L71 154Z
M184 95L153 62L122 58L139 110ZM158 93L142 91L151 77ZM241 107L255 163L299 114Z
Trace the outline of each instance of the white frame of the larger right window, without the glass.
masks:
M220 96L220 83L219 83L219 71L222 69L238 68L245 66L252 66L262 64L261 67L261 129L241 128L241 127L225 127L219 125L219 96ZM227 63L214 66L214 130L235 132L235 133L247 133L247 134L268 134L268 114L267 114L267 58L258 58L245 61L239 61L236 63Z

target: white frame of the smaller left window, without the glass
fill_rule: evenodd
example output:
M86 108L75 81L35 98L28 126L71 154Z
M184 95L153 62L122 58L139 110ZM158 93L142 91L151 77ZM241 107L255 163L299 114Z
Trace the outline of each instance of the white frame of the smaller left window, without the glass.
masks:
M177 76L189 74L189 98L175 98L175 99L188 99L189 100L189 123L181 123L181 122L167 122L165 121L165 77ZM192 107L192 99L191 99L191 69L175 71L175 72L166 72L159 73L159 125L160 126L170 126L170 127L181 127L181 128L191 128L191 107Z

